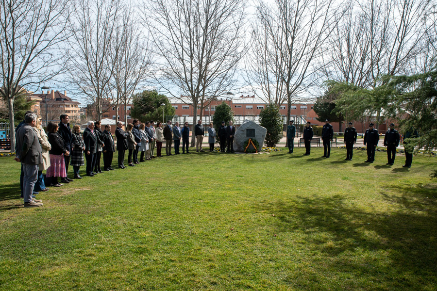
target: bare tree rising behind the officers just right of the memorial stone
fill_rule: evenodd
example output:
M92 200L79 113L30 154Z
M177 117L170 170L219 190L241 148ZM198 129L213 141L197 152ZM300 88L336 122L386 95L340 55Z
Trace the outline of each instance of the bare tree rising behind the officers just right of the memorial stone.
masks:
M341 17L333 2L275 0L268 5L260 0L257 6L249 77L268 102L288 103L287 123L291 104L304 101L303 92L313 84L314 60Z

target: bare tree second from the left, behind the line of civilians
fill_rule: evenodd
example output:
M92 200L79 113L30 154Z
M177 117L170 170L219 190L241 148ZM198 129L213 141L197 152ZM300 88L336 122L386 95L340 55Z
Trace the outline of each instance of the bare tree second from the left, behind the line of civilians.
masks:
M98 119L109 106L109 81L114 71L110 60L111 39L116 30L121 4L113 0L79 0L74 6L74 18L69 49L71 86L93 104Z

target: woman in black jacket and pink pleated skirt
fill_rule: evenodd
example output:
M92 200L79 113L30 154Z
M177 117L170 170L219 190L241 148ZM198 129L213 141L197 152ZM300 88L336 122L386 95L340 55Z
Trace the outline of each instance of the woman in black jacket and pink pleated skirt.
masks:
M58 134L58 125L55 122L50 122L47 126L49 131L50 149L50 167L47 169L46 177L51 177L51 186L61 187L63 184L58 183L58 177L67 177L65 170L64 155L68 156L70 153L64 145L64 139Z

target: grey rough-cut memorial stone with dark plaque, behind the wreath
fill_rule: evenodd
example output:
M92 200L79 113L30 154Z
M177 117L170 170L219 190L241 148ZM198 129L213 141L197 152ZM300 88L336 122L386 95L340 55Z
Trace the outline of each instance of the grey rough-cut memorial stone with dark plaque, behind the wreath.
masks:
M242 152L244 151L244 143L248 139L256 140L259 144L258 151L261 148L266 139L267 129L263 128L259 124L254 123L251 120L244 120L243 124L235 131L234 136L234 150Z

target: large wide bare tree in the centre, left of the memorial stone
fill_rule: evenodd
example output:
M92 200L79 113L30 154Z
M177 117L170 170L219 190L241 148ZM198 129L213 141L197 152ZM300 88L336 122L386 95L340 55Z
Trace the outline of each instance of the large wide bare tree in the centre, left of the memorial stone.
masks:
M235 68L245 51L245 5L246 0L149 0L144 6L145 26L162 59L156 81L193 106L193 124L198 104L202 118L210 99L224 96L235 84ZM174 88L178 94L172 94Z

